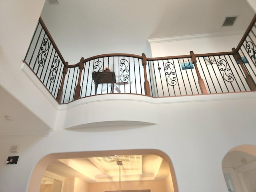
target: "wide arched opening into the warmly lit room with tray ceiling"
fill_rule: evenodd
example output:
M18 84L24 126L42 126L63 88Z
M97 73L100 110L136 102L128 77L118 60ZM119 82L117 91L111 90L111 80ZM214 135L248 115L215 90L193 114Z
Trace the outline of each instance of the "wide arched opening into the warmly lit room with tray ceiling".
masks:
M118 166L116 160L128 163ZM53 179L52 183L55 181L58 184L60 192L65 192L67 188L72 192L120 189L178 192L172 162L168 155L159 150L49 154L36 164L28 192L39 191L43 177L46 185L50 184L49 178ZM121 178L120 182L118 178Z

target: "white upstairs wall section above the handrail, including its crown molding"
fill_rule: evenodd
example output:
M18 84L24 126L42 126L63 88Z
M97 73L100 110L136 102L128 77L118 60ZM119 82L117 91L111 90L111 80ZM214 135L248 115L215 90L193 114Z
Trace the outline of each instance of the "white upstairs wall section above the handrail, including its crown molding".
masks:
M166 39L152 39L150 49L152 57L189 55L230 52L236 47L243 36L243 32L236 34L202 34L195 36L180 36Z

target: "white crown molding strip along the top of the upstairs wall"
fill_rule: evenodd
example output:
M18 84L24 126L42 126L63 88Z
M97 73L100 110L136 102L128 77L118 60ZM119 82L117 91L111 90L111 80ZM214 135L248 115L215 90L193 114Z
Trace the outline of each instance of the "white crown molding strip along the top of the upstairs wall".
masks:
M152 38L148 39L150 44L152 43L162 43L162 42L171 42L171 41L182 41L190 39L202 39L202 38L212 38L212 37L221 37L221 36L233 36L233 35L243 35L243 31L239 32L216 32L216 33L204 33L204 34L195 34L195 35L184 35L184 36L174 36L174 37L165 37L165 38Z

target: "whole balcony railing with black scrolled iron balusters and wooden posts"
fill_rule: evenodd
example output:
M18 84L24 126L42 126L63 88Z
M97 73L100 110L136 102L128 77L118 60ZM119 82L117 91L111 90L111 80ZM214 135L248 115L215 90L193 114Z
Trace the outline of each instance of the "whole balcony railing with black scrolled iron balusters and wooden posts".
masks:
M146 58L104 54L65 62L39 19L24 62L60 103L97 94L152 97L255 91L256 16L232 52Z

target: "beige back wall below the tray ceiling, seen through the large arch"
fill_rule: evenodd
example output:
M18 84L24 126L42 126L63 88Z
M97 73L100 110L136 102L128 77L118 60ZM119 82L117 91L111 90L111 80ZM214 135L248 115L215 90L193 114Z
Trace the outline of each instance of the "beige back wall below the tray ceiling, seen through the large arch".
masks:
M90 183L88 192L119 190L119 183ZM121 182L121 190L150 189L151 192L166 192L164 181Z

